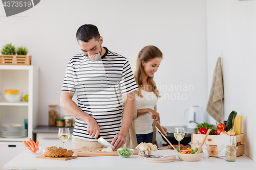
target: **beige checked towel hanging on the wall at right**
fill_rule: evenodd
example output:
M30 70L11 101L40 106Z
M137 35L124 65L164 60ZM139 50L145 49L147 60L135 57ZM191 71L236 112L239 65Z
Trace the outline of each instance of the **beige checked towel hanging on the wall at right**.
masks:
M207 112L217 121L223 120L221 99L224 98L221 57L218 58L211 84Z

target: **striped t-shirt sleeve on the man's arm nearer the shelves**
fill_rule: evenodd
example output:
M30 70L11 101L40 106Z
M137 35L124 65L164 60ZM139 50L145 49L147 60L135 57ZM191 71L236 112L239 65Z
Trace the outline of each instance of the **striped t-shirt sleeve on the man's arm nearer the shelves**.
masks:
M74 82L74 67L73 67L73 60L71 59L68 63L67 69L66 69L66 75L64 78L64 82L62 85L61 91L67 91L71 93L76 92L75 88L75 82Z

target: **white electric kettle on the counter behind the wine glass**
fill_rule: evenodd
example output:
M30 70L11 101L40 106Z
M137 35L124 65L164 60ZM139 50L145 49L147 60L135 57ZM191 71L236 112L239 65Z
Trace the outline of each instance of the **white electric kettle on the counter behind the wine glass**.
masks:
M188 114L186 114L187 112ZM195 129L197 125L206 122L203 108L199 106L192 106L188 109L185 109L183 117L187 119L188 129Z

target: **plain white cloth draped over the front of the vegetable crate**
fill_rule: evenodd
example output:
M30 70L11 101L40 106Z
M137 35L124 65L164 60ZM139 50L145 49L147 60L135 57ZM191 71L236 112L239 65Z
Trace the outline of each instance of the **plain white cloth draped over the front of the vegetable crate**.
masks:
M227 145L237 145L236 136L229 136L227 134L217 135L217 147L218 147L218 157L225 159L226 147Z

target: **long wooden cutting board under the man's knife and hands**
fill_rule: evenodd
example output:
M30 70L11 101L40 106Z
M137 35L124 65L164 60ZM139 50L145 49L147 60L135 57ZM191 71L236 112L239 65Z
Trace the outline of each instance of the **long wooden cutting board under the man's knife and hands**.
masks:
M102 152L103 148L101 149L72 149L72 151L74 151L74 153L77 156L116 156L118 155L117 151L113 151L113 152ZM99 150L99 151L97 151ZM138 155L137 151L135 150L133 155Z

